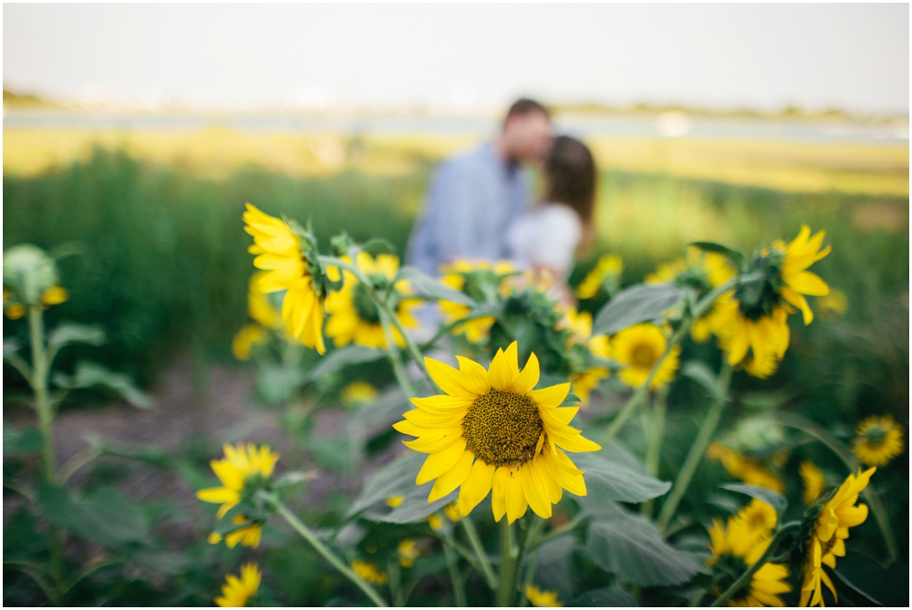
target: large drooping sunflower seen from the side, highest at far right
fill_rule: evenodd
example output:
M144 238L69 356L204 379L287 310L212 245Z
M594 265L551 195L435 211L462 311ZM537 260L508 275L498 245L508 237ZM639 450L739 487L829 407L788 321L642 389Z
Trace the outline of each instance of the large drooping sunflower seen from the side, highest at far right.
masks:
M823 296L830 287L807 268L830 253L830 246L821 248L824 231L811 236L811 229L802 225L801 232L786 245L781 240L772 243L756 256L748 273L761 273L762 282L741 284L717 301L713 326L726 352L728 363L739 365L748 351L753 358L750 374L772 374L771 366L778 365L789 346L788 315L793 307L801 310L804 324L811 324L814 313L805 295Z

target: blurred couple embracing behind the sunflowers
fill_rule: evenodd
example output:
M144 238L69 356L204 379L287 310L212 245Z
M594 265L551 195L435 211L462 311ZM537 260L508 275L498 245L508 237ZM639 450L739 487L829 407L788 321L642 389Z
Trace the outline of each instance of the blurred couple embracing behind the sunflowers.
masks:
M532 205L522 163L541 167L544 200ZM446 160L409 240L408 263L430 275L457 259L507 258L552 277L565 294L575 255L595 241L596 165L586 145L554 137L547 109L513 104L497 137Z

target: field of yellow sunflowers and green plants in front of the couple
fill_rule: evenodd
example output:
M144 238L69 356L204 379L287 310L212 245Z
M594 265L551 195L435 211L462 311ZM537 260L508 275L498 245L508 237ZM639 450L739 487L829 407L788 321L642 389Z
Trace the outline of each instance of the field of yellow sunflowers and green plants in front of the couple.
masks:
M5 604L908 605L907 198L606 172L568 300L420 168L5 176Z

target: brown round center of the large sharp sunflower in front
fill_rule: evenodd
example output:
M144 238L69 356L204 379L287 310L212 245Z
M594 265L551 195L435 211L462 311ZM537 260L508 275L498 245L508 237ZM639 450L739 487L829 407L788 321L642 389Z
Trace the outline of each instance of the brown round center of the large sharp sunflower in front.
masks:
M462 419L466 449L486 464L524 464L535 457L544 424L530 398L491 389Z

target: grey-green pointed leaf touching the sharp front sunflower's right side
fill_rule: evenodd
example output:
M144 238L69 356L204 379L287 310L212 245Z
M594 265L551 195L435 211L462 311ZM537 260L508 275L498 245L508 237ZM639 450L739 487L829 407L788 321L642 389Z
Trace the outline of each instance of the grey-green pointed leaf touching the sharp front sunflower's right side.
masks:
M617 442L610 443L617 445ZM609 446L610 446L609 445ZM580 498L586 510L596 508L607 500L623 502L641 502L667 493L671 483L659 481L612 459L613 450L602 450L599 453L582 453L573 456L572 460L580 470L586 470L583 479L586 481L587 495Z

